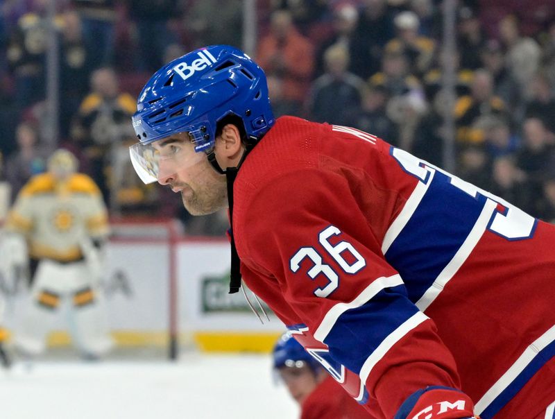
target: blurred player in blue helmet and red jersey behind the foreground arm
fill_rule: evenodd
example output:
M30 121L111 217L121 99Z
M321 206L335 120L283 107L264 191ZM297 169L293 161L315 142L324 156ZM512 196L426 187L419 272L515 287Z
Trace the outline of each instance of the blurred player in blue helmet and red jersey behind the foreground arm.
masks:
M273 368L300 405L300 419L370 418L288 332L273 348Z

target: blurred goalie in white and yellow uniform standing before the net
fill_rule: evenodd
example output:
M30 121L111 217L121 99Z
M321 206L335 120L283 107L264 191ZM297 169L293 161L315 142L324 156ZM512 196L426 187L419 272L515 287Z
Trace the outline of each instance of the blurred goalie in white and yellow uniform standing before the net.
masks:
M27 182L6 221L6 234L26 238L31 262L30 301L14 337L15 349L26 357L44 351L64 302L83 358L101 357L112 346L99 290L108 211L94 181L77 169L69 151L54 152L48 171Z

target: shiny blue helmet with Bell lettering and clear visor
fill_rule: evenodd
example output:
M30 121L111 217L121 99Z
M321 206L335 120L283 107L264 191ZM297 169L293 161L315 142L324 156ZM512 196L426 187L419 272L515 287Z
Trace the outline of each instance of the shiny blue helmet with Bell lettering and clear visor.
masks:
M183 55L158 70L143 87L133 115L139 142L130 147L135 171L157 180L156 152L148 145L187 132L195 151L212 150L216 126L234 115L256 141L275 119L264 71L243 51L212 45Z

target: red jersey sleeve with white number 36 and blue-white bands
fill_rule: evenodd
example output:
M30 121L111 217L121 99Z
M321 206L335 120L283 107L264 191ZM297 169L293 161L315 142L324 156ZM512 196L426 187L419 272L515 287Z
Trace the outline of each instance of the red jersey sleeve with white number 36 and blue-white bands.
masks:
M460 382L434 322L384 259L371 214L359 210L364 185L351 180L348 173L302 169L259 188L241 222L239 256L271 273L305 326L298 332L322 344L301 342L305 348L333 366L338 381L343 368L358 376L351 395L377 402L392 418L420 388Z

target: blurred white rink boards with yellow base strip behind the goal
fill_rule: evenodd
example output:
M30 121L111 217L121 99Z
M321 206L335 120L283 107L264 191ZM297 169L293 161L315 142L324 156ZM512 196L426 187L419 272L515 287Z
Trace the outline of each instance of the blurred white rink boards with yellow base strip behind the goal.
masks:
M200 350L268 352L284 331L267 307L271 321L262 325L241 292L228 294L225 239L117 239L108 246L102 288L119 345L167 345L176 330L182 343L192 339ZM8 298L5 318L12 330L26 299L23 290ZM67 307L60 310L52 345L69 343L70 313Z

